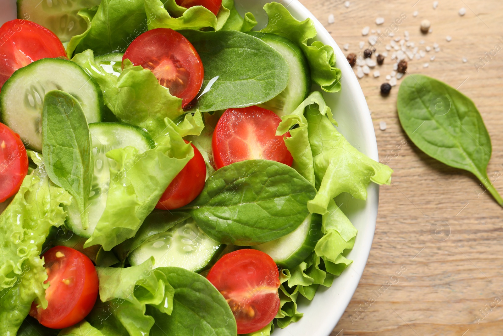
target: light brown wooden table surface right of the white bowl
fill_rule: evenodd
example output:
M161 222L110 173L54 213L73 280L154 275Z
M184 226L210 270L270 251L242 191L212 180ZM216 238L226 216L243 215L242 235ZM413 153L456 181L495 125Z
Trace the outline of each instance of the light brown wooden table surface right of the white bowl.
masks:
M441 51L409 61L408 73L436 77L473 99L492 140L488 175L503 193L503 178L498 178L503 176L503 50L487 58L485 65L478 61L496 44L503 48L503 2L440 0L434 10L433 0L350 0L349 8L343 0L300 1L340 46L350 44L348 51L343 50L346 54L363 52L360 41L368 46L363 27L384 30L402 12L407 18L395 36L408 31L416 45L425 40L420 48L437 42ZM458 14L462 7L464 16ZM328 24L329 14L335 23ZM377 26L377 17L384 17L385 23ZM419 29L424 19L432 24L428 35ZM447 35L451 42L446 41ZM385 51L386 43L377 51ZM478 71L476 61L484 65ZM392 70L391 58L377 68L379 78L371 73L360 84L372 111L379 157L389 155L388 164L395 172L392 185L381 187L365 272L331 335L503 335L502 209L470 173L428 157L410 142L396 112L398 86L387 98L379 95L385 75ZM386 130L379 129L381 121L386 122ZM440 231L435 235L432 230ZM402 265L406 271L392 281L395 284L374 303L368 302Z

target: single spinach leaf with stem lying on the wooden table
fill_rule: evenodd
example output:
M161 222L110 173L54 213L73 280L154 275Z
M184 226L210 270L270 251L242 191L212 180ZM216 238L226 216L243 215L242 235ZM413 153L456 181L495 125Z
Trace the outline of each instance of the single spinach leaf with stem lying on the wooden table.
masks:
M491 139L470 98L434 78L411 75L400 85L397 108L403 129L419 149L473 173L503 207L487 177Z

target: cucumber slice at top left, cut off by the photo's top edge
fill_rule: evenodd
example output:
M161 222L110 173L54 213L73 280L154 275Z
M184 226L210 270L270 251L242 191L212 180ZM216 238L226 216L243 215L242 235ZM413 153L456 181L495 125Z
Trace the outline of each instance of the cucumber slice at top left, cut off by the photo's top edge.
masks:
M18 0L18 18L36 22L67 42L86 31L86 21L77 12L100 3L101 0Z

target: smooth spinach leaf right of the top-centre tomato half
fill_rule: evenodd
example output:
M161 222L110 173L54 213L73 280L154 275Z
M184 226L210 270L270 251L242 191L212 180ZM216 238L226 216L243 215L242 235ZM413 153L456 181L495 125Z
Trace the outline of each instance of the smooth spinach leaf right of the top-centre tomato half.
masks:
M218 76L198 99L196 107L201 112L261 104L288 84L290 69L285 58L257 37L235 30L180 33L194 45L203 62L201 90Z

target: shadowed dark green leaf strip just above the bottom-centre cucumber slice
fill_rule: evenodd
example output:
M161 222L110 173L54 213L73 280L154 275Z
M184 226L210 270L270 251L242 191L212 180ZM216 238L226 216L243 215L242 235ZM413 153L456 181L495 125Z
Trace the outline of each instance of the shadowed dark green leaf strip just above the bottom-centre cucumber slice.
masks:
M166 232L176 224L187 220L189 217L190 215L187 213L154 210L145 218L134 237L114 247L114 252L117 254L120 261L124 262L129 253L147 241L148 238L158 233Z

